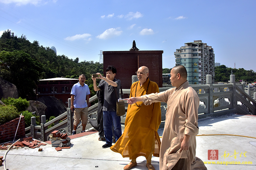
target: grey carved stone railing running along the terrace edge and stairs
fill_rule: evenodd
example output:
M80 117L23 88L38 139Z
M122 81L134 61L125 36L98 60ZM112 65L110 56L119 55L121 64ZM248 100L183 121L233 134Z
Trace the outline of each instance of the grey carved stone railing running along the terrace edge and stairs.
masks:
M208 77L208 82L211 78ZM198 108L198 119L206 117L217 117L221 115L226 115L229 113L239 113L239 114L251 114L256 115L256 101L244 92L243 84L204 84L204 85L191 85L193 89L196 90L198 97L200 99L200 106ZM159 88L159 91L165 91L172 87ZM130 89L123 89L124 94L130 94ZM97 96L92 96L89 102L93 102L97 99ZM70 101L69 101L70 103ZM128 105L126 105L127 107ZM166 103L161 103L161 112L162 112L162 123L164 124L165 113L166 113ZM89 117L97 117L97 107L98 103L88 108ZM64 119L61 123L58 123L59 120ZM121 117L121 123L124 123L125 117ZM32 121L31 121L32 122ZM30 127L26 128L26 131L29 133L26 136L32 136L33 138L46 141L48 140L49 134L54 130L60 130L68 135L72 134L73 122L74 122L74 113L67 108L67 112L61 114L55 119L49 121L48 123L42 123L40 126L31 124ZM42 122L44 122L42 120ZM54 123L50 129L47 127ZM88 124L86 129L91 128L92 126ZM77 132L80 132L82 128L78 128ZM43 133L41 133L43 132Z

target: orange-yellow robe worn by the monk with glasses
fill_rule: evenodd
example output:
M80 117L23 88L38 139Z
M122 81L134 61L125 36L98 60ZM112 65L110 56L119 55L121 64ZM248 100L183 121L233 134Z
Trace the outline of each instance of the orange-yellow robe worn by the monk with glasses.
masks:
M155 82L147 79L141 87L139 81L132 84L130 97L135 97L135 92L136 96L142 96L146 92L157 93L159 89ZM124 133L110 149L120 153L123 158L136 159L139 156L148 158L152 151L154 156L159 157L161 141L157 130L161 123L160 103L152 103L148 106L142 102L136 104L128 105Z

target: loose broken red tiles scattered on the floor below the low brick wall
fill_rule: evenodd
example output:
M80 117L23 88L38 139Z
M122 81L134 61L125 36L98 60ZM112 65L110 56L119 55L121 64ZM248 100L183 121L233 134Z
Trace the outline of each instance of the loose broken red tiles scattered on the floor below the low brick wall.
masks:
M2 146L0 146L0 149L5 149L7 150L10 146L12 145L12 143L6 143L3 144ZM45 143L33 139L32 137L28 137L28 138L23 138L23 140L20 140L18 142L16 142L14 145L12 145L12 148L10 149L18 149L19 147L28 147L28 148L39 148L41 145L46 145Z

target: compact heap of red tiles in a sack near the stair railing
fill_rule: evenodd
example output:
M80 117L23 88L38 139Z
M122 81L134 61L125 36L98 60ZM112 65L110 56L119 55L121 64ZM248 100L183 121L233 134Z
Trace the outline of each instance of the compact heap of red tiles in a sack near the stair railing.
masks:
M68 137L67 133L60 133L60 131L53 131L49 135L50 141L52 143L52 146L55 147L67 147L70 143L70 138Z

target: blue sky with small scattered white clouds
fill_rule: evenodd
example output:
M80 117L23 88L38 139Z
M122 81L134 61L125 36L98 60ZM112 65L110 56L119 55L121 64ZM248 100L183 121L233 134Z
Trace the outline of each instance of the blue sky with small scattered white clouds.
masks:
M11 30L30 42L55 46L57 55L98 61L100 50L163 50L163 68L174 52L202 40L215 62L256 71L255 0L0 0L0 34Z

